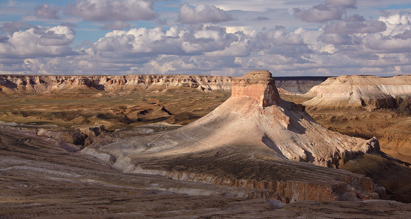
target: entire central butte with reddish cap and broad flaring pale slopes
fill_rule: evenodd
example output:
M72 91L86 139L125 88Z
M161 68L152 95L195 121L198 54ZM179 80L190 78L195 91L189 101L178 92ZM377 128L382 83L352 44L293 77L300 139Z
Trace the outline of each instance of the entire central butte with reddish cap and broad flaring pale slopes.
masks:
M185 127L106 145L93 143L80 153L106 154L111 159L106 161L123 172L273 189L287 202L379 198L376 190L383 197L383 188L369 178L326 168L378 151L376 139L323 128L302 105L279 98L271 73L253 71L232 80L226 102Z

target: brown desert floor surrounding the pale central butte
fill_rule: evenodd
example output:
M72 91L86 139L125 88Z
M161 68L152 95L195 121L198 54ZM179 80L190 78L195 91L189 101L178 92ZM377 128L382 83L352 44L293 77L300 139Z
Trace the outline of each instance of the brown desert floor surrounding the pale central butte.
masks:
M287 90L279 89L279 95L294 103L310 99L295 93L307 92L325 80L316 78L303 86L304 79L298 78L299 83L286 79L281 82ZM94 141L104 145L178 130L209 114L230 96L229 91L204 92L185 86L148 87L129 93L74 89L1 95L0 218L411 218L411 205L406 204L411 201L411 116L404 111L305 108L328 130L379 139L381 151L391 160L366 154L341 165L342 170L323 167L321 171L334 170L326 173L333 177L363 174L386 187L391 201L283 203L273 200L278 194L266 188L123 173L112 167L110 158L105 157L105 162L76 152ZM218 153L213 156L224 156ZM236 156L241 153L229 160ZM198 158L190 162L210 163ZM179 160L171 162L176 162L173 165L177 168L185 165ZM238 165L244 163L234 162L227 168L233 169L234 175L248 174L236 171ZM359 165L366 168L358 169Z

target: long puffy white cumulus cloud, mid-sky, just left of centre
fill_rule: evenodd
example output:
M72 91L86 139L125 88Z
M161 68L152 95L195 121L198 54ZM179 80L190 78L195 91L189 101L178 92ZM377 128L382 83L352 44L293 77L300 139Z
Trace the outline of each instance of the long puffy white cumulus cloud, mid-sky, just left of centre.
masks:
M133 28L129 31L113 31L92 47L96 52L118 51L120 54L201 54L222 50L236 41L234 34L219 30L192 30L187 27L173 26L169 30L162 27L152 29Z

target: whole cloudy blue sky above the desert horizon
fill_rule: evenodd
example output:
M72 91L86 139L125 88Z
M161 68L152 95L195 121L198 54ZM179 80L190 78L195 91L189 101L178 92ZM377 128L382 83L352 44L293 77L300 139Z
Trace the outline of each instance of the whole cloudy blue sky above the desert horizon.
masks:
M411 74L409 0L0 0L0 74Z

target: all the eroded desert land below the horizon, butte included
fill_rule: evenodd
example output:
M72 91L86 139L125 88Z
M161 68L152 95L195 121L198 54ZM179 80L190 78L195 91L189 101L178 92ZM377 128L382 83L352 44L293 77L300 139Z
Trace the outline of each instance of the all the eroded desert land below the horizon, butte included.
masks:
M1 75L0 218L411 218L409 78Z

